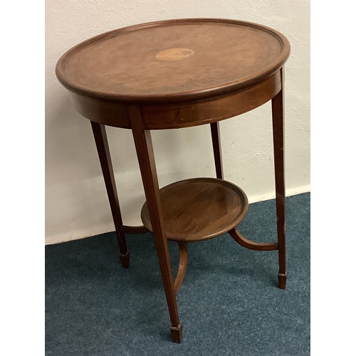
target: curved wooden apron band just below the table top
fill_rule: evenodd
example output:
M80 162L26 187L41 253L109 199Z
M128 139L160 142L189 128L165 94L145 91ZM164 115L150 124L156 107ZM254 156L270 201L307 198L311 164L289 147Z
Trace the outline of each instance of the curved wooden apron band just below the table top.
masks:
M278 70L261 83L238 93L210 101L171 104L116 103L71 93L73 105L81 115L103 125L132 128L129 108L140 109L145 130L164 130L204 125L241 115L268 102L281 90L281 73Z

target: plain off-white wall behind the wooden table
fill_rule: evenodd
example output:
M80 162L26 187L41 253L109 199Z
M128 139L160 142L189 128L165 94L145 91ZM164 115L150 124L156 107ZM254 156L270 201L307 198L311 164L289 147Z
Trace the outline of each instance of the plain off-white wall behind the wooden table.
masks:
M310 190L309 0L46 0L46 244L113 231L90 122L73 109L54 70L76 43L147 21L214 17L253 21L287 36L287 194ZM130 130L108 127L124 224L140 225L145 201ZM271 105L221 122L225 179L250 202L274 194ZM214 177L209 125L153 132L159 184Z

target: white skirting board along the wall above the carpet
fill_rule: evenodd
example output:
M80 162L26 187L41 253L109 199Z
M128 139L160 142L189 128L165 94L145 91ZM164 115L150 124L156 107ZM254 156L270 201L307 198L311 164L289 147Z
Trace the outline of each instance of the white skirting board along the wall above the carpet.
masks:
M286 189L286 196L291 197L296 194L303 194L310 192L310 184L302 187ZM265 201L269 199L275 199L276 193L271 192L268 194L255 195L248 197L248 203L256 203L257 201ZM85 239L87 237L105 234L106 232L114 231L114 224L108 224L106 226L96 226L95 229L75 231L70 234L58 234L55 236L46 236L45 244L61 244L62 242Z

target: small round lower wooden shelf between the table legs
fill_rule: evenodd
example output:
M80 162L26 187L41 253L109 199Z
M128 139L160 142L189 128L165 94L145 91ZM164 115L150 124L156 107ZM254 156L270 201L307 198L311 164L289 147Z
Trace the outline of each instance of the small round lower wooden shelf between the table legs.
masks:
M167 239L202 241L234 229L248 209L246 194L235 184L215 178L194 178L159 189ZM147 202L142 223L152 231Z

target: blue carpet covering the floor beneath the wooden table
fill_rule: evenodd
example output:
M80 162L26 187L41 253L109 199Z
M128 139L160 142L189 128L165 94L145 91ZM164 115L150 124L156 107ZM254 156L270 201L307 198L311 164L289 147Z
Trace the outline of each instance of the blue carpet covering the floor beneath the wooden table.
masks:
M286 209L286 290L277 251L227 234L189 244L181 344L170 337L152 234L127 235L127 270L113 233L46 246L46 355L310 355L310 193L288 197ZM241 233L276 241L275 211L274 200L251 204ZM176 271L177 244L169 250Z

